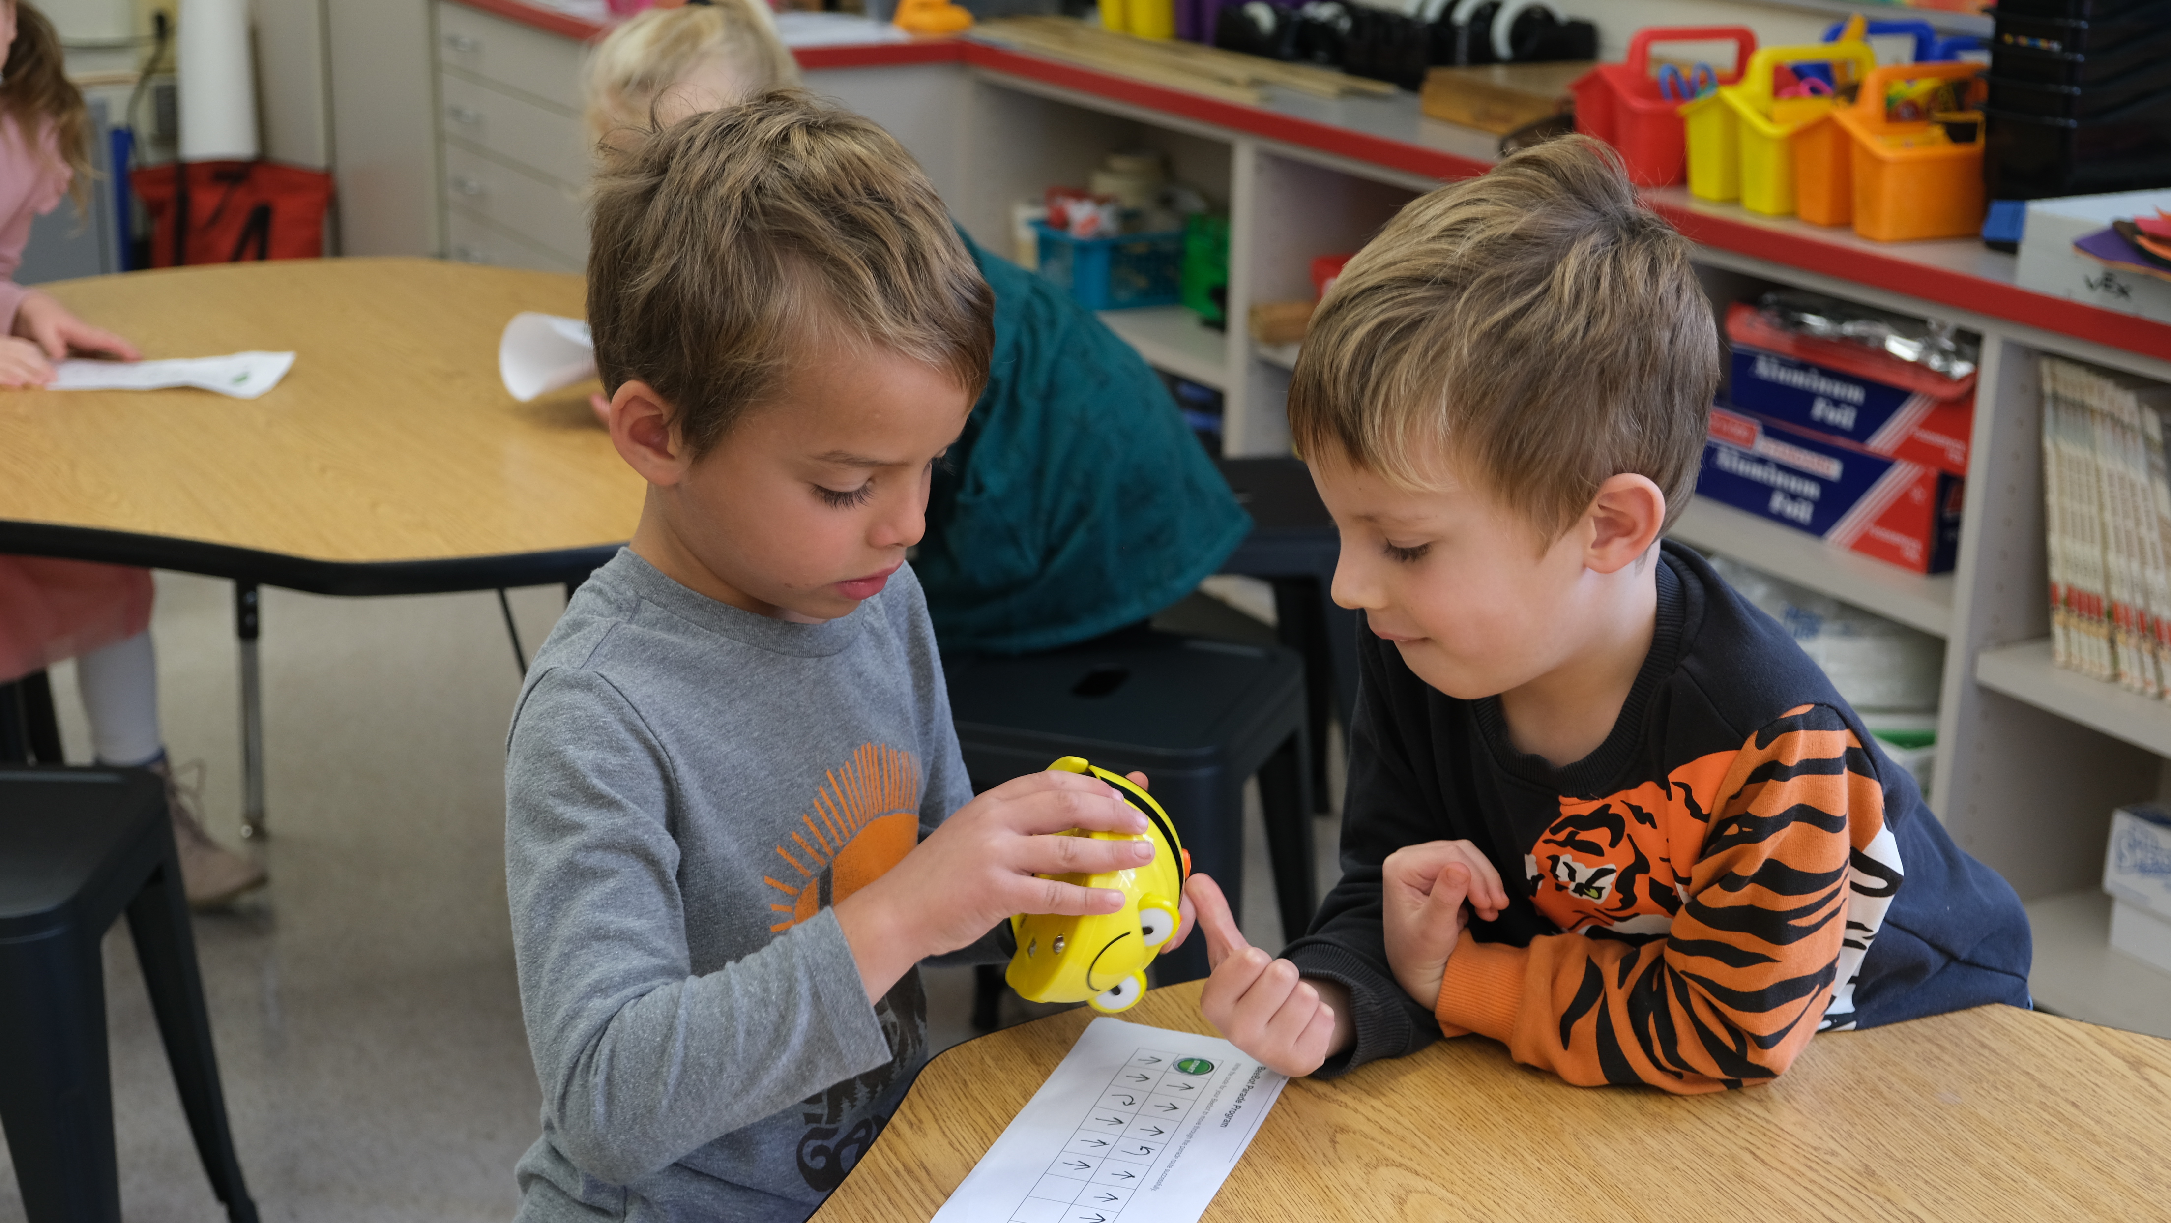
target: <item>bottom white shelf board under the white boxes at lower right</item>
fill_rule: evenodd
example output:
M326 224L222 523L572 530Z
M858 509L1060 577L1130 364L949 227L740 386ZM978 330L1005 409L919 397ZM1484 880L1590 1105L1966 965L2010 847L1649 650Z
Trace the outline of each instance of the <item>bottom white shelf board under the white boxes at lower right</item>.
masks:
M2034 969L2028 993L2067 1019L2171 1036L2171 973L2110 947L2110 897L2097 888L2028 904Z

